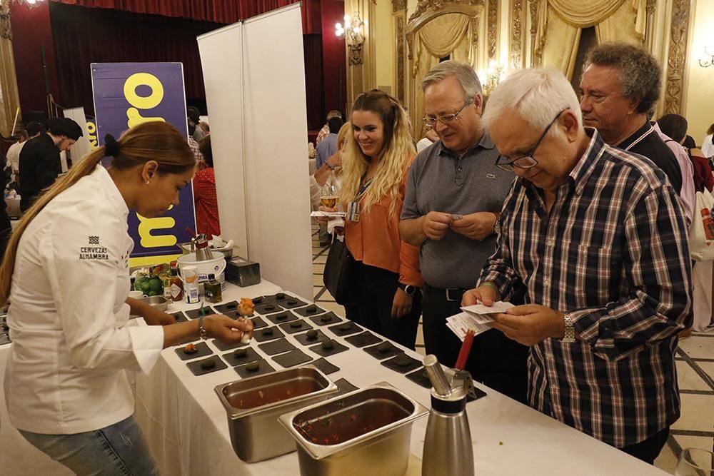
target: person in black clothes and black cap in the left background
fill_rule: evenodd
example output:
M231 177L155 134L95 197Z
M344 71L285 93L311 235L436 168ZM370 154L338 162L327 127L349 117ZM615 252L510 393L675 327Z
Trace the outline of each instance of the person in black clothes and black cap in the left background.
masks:
M20 152L20 210L30 208L42 189L49 187L61 173L59 153L66 151L82 136L78 123L65 117L47 121L48 132L27 141Z

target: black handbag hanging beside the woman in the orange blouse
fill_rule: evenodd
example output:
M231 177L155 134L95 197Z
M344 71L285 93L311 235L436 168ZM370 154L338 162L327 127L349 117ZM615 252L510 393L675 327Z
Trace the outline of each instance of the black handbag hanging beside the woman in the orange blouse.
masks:
M354 274L355 258L347 249L347 243L338 239L335 233L322 278L336 303L348 305L357 302L357 282Z

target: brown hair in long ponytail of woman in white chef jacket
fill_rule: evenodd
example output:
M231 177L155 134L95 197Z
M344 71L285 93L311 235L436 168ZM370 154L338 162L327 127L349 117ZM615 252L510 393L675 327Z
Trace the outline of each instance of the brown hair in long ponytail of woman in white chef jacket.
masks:
M72 166L65 176L58 178L45 193L23 214L7 243L0 265L0 305L10 296L12 273L15 268L17 247L30 222L60 193L73 186L80 178L94 171L106 156L111 156L111 167L119 170L141 165L147 161L159 163L158 173L183 173L196 165L196 158L181 133L163 121L141 123L126 131L118 141L107 136L106 146L101 146Z

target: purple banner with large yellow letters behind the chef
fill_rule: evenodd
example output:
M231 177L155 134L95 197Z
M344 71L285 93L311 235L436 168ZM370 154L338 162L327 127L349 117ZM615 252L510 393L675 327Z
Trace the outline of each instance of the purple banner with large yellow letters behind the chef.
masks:
M181 63L92 63L91 77L100 146L106 134L119 138L146 121L166 121L188 136ZM131 265L164 263L181 254L176 243L190 240L186 228L196 229L191 184L178 198L179 205L164 216L129 213L129 235L134 239Z

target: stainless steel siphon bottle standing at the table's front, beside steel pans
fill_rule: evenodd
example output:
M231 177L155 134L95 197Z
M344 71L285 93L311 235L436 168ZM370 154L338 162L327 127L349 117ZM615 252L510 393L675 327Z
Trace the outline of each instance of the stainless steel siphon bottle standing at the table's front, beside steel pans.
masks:
M473 447L466 416L470 377L450 380L433 354L427 355L423 364L433 388L421 476L473 476Z

